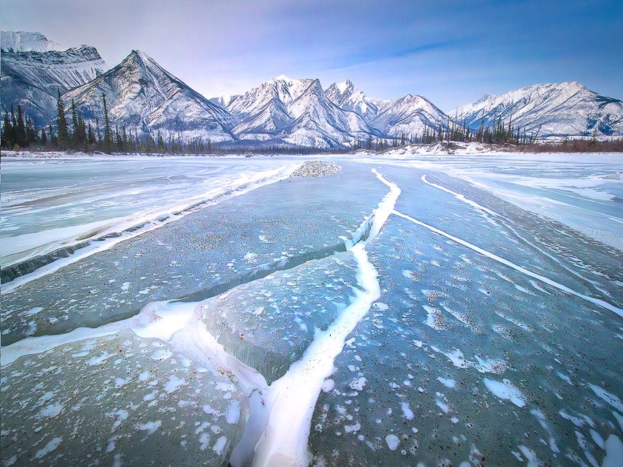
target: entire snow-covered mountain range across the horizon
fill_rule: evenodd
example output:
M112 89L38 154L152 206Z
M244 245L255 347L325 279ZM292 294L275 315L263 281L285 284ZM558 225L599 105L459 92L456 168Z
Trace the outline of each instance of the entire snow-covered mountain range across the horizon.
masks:
M444 113L421 95L370 98L354 84L275 77L244 94L206 98L141 51L109 68L96 48L64 48L40 33L1 33L1 107L20 104L39 127L53 123L57 93L87 122L153 138L223 145L350 147L370 138L420 136L456 122L474 131L498 120L539 137L623 136L623 103L576 82L534 84Z

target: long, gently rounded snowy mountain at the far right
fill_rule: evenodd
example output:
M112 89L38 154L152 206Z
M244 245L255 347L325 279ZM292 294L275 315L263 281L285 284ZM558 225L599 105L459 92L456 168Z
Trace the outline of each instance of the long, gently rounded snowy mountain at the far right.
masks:
M472 104L450 113L465 120L471 129L485 127L499 118L512 119L515 127L528 134L548 136L590 136L596 127L599 136L623 136L623 102L590 91L577 82L533 84L505 94L485 94Z

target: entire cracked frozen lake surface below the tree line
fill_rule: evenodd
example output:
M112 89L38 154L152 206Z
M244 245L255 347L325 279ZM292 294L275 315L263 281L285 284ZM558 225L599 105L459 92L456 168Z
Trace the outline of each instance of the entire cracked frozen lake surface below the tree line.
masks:
M5 159L2 463L621 465L617 172Z

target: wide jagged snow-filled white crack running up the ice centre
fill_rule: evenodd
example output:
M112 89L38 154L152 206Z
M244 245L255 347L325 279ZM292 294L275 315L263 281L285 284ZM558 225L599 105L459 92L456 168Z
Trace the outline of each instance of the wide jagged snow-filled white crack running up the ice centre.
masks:
M379 181L390 187L390 191L363 221L352 240L345 241L347 250L352 252L357 262L357 282L361 289L356 291L351 304L326 331L316 333L303 357L269 387L267 399L271 408L268 414L262 414L267 416L264 430L257 443L246 439L245 443L236 446L231 459L234 466L250 464L251 461L253 466L309 464L307 439L311 430L311 417L325 378L333 373L334 359L342 351L347 336L381 295L378 273L368 259L365 246L381 231L401 190L377 170L372 169L372 172Z

